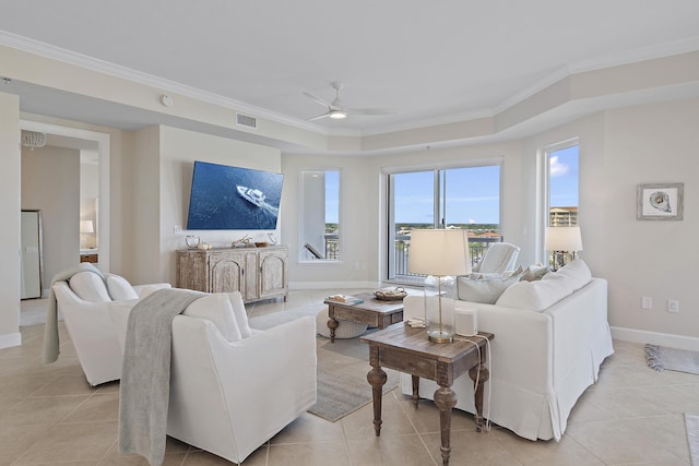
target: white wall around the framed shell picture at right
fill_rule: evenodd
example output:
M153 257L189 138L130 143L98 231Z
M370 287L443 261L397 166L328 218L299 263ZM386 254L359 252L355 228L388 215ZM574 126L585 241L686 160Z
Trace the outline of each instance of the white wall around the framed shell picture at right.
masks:
M623 328L699 336L699 99L608 111L605 118L604 272L609 323ZM639 183L685 183L683 222L636 219ZM641 297L653 309L640 309ZM668 299L679 313L666 312Z

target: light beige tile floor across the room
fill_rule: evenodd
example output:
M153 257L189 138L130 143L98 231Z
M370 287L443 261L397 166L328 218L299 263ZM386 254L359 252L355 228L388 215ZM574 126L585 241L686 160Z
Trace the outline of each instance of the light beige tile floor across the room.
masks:
M249 304L248 312L297 309L329 294L293 291L288 302ZM60 326L61 356L52 365L40 360L42 324L21 328L22 346L0 350L0 466L147 465L140 456L118 454L118 383L90 387ZM578 402L560 442L531 442L495 426L477 433L473 417L457 410L451 464L688 465L683 414L699 413L699 375L648 369L639 344L617 340L615 350L600 382ZM244 465L441 464L431 402L420 402L415 410L395 390L384 395L380 438L374 435L371 419L370 404L334 423L304 414ZM229 463L168 439L167 466L223 464Z

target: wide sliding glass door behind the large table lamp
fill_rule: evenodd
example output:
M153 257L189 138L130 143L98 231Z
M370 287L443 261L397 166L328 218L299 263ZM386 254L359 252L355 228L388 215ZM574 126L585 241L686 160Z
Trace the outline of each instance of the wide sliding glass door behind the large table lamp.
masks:
M389 280L423 280L407 273L412 229L467 229L473 262L500 240L499 165L390 174L388 193Z

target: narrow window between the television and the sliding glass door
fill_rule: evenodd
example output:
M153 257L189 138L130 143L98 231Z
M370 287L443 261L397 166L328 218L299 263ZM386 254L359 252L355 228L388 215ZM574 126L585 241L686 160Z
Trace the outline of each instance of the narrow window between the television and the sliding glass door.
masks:
M340 171L301 170L301 261L337 261Z

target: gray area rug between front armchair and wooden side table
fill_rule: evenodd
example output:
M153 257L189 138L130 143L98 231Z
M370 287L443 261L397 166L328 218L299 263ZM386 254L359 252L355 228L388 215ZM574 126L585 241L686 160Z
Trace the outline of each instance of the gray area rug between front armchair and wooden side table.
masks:
M265 330L304 315L316 316L322 306L280 311L269 315L250 319L250 326ZM376 330L369 330L376 332ZM367 382L369 366L369 346L359 337L337 339L316 336L318 355L318 402L308 411L332 422L371 403L371 385ZM383 393L395 389L399 383L398 371L383 369L388 380Z

